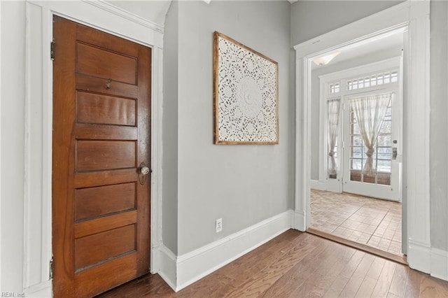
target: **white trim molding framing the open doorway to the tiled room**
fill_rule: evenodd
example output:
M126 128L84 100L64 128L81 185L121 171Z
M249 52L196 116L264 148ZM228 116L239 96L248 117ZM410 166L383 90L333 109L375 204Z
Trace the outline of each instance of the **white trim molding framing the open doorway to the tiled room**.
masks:
M405 34L407 38L404 41L405 57L409 55L405 59L407 87L404 90L404 111L407 115L404 118L403 135L405 143L403 177L406 180L403 180L403 187L406 188L407 195L407 211L405 211L408 215L407 235L409 242L413 243L412 249L408 250L409 266L420 271L428 271L430 266L427 265L430 264L430 257L423 257L424 260L421 262L416 255L417 251L423 252L427 250L426 248L430 248L429 4L429 1L405 1L294 47L297 88L295 213L304 214L303 222L306 229L310 218L311 59L338 48L367 42L372 38L407 28ZM405 192L403 192L404 199ZM295 228L300 228L297 222Z

